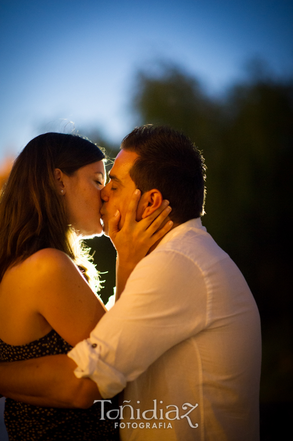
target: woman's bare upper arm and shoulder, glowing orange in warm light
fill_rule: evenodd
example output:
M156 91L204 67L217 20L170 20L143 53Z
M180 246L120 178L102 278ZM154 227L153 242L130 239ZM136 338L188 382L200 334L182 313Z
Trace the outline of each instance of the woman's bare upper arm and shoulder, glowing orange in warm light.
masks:
M42 316L72 346L88 338L106 312L71 259L56 249L26 259L17 287L32 317Z

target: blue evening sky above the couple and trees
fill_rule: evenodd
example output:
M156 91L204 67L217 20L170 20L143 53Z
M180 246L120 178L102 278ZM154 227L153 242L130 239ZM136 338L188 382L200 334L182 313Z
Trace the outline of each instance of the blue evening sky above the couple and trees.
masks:
M0 155L68 121L118 143L135 73L158 60L221 94L253 57L293 72L292 1L0 0Z

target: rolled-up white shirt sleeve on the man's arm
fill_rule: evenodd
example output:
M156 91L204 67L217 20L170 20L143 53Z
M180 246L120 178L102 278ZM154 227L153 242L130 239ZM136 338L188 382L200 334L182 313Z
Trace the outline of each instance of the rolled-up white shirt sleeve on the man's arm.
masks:
M197 295L194 297L194 288ZM165 351L206 326L206 287L197 265L156 249L135 267L113 308L68 357L103 398L121 392Z

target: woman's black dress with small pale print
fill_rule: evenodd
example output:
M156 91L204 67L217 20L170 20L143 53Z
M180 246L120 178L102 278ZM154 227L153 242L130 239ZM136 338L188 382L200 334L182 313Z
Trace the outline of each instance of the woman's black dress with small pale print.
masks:
M0 340L0 361L12 362L38 358L44 355L66 354L72 346L54 329L45 337L21 346L12 346ZM105 415L118 409L117 397L112 404L105 402ZM113 413L114 414L114 413ZM6 398L4 420L9 441L118 441L118 420L100 420L101 403L89 409L60 409L39 407Z

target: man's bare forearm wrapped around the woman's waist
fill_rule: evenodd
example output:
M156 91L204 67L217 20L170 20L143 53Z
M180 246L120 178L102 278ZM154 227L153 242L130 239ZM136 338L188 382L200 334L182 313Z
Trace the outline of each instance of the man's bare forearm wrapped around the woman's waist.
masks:
M35 406L88 408L102 398L93 381L75 377L75 368L65 354L0 363L0 390Z

